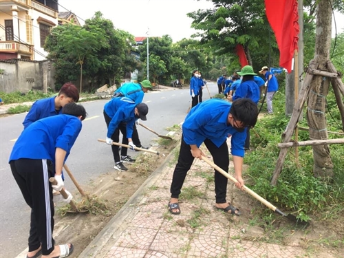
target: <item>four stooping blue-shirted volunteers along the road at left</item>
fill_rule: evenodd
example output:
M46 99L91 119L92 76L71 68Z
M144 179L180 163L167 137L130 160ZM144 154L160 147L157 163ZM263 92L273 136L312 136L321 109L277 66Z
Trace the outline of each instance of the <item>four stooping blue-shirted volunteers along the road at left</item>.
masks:
M127 83L117 89L114 98L104 107L108 127L106 142L111 144L115 169L127 170L122 162L135 161L127 155L127 148L122 148L119 155L118 147L112 145L114 140L119 142L119 132L123 135L122 143L132 149L144 148L135 122L138 118L147 120L148 107L142 100L148 89L152 89L149 80ZM74 250L70 243L54 245L53 190L63 189L63 165L81 131L81 121L87 116L85 108L76 104L78 100L78 89L72 83L65 83L57 96L36 100L25 116L23 131L10 154L12 175L31 208L27 258L67 257ZM57 184L52 185L50 178ZM67 198L63 201L69 203L72 194L65 192Z

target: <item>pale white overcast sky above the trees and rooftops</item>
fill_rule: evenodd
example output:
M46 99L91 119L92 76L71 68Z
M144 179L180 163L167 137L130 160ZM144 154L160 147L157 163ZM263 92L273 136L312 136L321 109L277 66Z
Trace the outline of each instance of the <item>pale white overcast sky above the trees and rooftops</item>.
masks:
M125 30L133 36L162 36L168 34L173 42L191 38L193 19L189 12L213 7L206 0L58 0L60 12L71 11L81 19L90 19L100 11L110 19L115 28ZM96 5L95 5L96 3ZM335 13L337 34L344 32L344 15ZM78 18L79 19L79 18ZM79 19L83 25L83 21ZM332 17L332 37L334 37Z

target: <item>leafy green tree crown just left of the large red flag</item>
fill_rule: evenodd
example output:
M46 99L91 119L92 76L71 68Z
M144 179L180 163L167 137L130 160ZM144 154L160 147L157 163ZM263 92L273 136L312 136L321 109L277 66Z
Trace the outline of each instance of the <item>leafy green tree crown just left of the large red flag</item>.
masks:
M272 45L272 59L278 60L275 58L277 44L266 20L264 1L213 0L213 3L213 9L188 14L193 19L191 26L202 31L193 36L200 37L204 47L211 47L214 54L221 56L234 54L236 45L241 44L248 63L252 65L251 53L255 52L260 68L270 63L269 46Z

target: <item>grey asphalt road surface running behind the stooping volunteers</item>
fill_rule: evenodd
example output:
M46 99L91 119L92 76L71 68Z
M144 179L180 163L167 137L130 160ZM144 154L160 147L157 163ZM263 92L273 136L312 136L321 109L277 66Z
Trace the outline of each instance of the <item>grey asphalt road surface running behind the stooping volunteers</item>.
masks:
M208 83L211 96L217 94L217 85ZM209 94L204 89L204 100ZM67 159L69 169L80 184L88 184L101 175L114 169L114 160L110 147L98 138L105 139L107 127L103 117L103 107L109 100L94 100L82 103L87 111L87 118L83 121L83 129ZM144 125L159 134L166 134L167 127L178 125L186 116L191 105L189 87L184 89L172 88L162 91L149 92L144 96L144 103L149 106L149 114ZM18 114L0 118L0 257L16 257L28 243L30 226L30 208L25 204L19 187L17 186L8 157L12 151L15 140L23 130L22 122L26 114ZM149 146L155 134L143 127L138 127L142 146ZM128 151L131 156L137 155L135 151ZM66 180L65 186L69 191L76 191L71 180Z

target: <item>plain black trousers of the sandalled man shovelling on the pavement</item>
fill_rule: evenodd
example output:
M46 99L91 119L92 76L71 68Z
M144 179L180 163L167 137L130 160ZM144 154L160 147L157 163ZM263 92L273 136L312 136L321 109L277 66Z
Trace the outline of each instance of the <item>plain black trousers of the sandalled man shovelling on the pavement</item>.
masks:
M217 164L224 171L228 172L229 166L229 153L228 146L226 141L220 146L216 147L211 140L204 140L206 148L210 151L213 156L214 163ZM186 178L186 173L188 173L191 165L193 164L193 155L191 154L191 147L189 144L186 144L182 137L182 143L180 145L180 152L178 163L175 166L173 172L173 180L171 184L171 198L178 198L184 180ZM227 192L227 182L228 179L221 173L215 170L215 199L217 204L226 203L226 192Z

